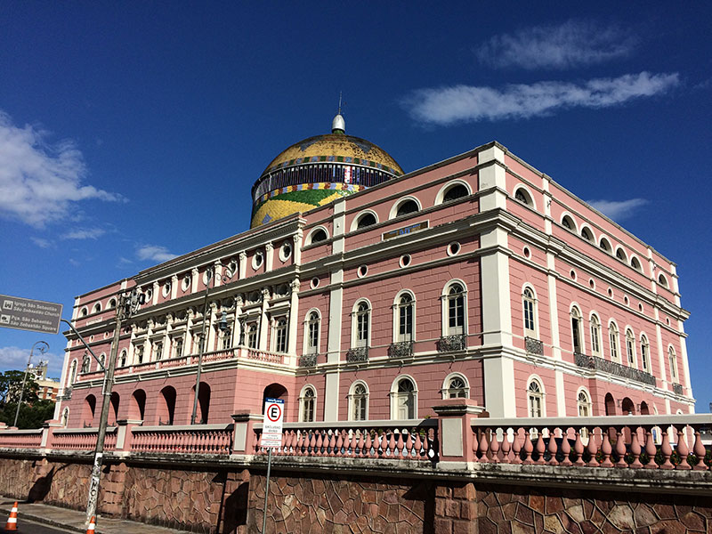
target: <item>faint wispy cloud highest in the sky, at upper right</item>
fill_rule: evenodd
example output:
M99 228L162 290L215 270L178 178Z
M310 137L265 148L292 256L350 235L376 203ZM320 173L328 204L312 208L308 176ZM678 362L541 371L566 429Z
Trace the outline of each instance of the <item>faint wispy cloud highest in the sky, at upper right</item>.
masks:
M569 69L627 56L635 44L635 37L618 26L569 20L494 36L475 54L497 68Z

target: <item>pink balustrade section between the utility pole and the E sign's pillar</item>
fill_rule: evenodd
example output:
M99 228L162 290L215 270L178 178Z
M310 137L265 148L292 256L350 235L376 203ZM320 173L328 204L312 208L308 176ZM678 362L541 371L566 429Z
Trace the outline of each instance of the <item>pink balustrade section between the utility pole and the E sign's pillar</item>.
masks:
M230 454L232 425L136 426L134 452Z

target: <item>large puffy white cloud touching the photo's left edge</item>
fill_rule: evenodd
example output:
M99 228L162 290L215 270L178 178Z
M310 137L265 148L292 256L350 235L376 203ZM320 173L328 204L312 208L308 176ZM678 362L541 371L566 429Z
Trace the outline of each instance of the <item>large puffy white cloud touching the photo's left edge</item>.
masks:
M81 200L124 199L82 185L82 153L71 141L50 144L48 137L34 126L13 125L0 111L0 214L41 228L69 217Z

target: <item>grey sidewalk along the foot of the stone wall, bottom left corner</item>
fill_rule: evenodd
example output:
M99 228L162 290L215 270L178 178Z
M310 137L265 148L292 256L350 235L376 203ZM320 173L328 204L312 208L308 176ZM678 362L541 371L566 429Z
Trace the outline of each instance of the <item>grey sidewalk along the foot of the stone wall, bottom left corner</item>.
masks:
M14 502L14 499L0 497L0 514L2 514L0 528L4 526ZM54 527L75 530L82 534L86 532L85 513L80 510L69 510L69 508L43 505L41 503L28 504L21 501L18 502L17 508L18 525L20 526L23 519L28 519ZM188 534L187 530L166 529L141 522L101 516L96 520L96 532L97 534Z

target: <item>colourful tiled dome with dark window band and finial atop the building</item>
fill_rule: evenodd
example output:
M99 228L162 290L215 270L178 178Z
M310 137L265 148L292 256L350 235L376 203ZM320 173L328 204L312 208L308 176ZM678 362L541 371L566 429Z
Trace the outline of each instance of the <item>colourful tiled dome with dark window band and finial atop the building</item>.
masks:
M251 228L324 206L403 174L401 166L372 142L345 134L334 117L331 134L283 150L252 188Z

